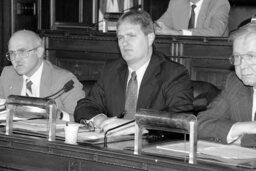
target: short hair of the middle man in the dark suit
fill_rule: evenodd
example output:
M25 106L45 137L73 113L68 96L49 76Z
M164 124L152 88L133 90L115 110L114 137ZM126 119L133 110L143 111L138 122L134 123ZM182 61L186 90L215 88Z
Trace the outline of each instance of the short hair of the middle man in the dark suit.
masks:
M124 13L117 22L117 29L122 22L128 21L132 24L138 24L141 26L141 30L145 35L154 33L154 24L149 13L143 10L131 10Z

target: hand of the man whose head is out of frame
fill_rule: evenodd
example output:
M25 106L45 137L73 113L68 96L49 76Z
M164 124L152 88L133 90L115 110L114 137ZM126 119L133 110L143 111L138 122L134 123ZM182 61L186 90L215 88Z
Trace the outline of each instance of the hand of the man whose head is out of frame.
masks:
M158 35L182 35L182 32L170 29L163 22L155 22L155 32Z

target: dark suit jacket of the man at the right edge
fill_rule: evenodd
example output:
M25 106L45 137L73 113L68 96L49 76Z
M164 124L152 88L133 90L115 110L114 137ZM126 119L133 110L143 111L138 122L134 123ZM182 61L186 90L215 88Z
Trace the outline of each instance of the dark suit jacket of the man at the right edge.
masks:
M252 101L252 87L245 86L234 72L231 73L221 94L198 115L199 138L227 143L234 123L252 120ZM245 137L241 140L242 145Z

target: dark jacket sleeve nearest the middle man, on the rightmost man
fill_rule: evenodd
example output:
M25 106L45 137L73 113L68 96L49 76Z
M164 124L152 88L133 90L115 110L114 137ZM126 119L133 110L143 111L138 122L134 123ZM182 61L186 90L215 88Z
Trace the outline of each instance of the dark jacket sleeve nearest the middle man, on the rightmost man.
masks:
M233 85L231 77L232 75L228 76L224 90L207 107L207 110L198 114L199 138L227 143L227 135L236 122L231 119L232 93L229 91Z

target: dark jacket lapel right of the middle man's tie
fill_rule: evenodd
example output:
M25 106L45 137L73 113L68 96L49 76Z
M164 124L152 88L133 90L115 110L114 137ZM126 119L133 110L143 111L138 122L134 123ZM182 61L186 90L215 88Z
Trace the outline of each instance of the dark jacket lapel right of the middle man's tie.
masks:
M152 101L152 96L158 90L157 75L160 72L160 63L162 60L159 56L152 55L148 68L145 71L144 77L140 85L140 91L137 102L137 109L149 108Z

